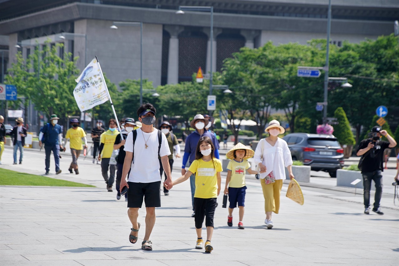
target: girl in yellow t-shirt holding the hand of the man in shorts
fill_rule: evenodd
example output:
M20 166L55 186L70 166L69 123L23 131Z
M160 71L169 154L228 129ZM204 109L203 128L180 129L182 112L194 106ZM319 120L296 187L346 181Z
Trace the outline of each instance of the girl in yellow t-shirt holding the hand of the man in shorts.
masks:
M216 199L220 193L222 163L214 156L215 147L209 137L201 137L197 144L196 160L190 165L186 174L173 181L177 185L196 174L196 192L194 194L195 223L197 231L196 249L202 249L202 223L205 218L207 240L205 252L213 250L211 238L213 233L213 216L215 214Z

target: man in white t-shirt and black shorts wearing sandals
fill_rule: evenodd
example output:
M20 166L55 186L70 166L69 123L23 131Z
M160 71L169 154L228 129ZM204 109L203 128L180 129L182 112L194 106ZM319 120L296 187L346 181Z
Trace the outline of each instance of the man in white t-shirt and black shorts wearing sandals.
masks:
M128 188L127 213L132 223L129 241L132 244L137 242L138 229L140 229L140 223L137 222L138 209L142 206L143 198L146 204L146 232L144 241L141 243L142 250L152 250L152 242L149 238L155 224L155 207L161 206L158 153L167 177L164 185L168 188L173 186L168 159L170 149L165 134L161 131L158 133L158 129L153 127L155 114L156 109L150 103L144 103L138 108L138 121L142 123L142 127L130 132L126 138L124 144L126 156L120 180L120 191L122 192L125 186ZM136 139L133 147L134 134L136 134ZM161 145L159 137L161 137ZM129 170L130 174L126 182Z

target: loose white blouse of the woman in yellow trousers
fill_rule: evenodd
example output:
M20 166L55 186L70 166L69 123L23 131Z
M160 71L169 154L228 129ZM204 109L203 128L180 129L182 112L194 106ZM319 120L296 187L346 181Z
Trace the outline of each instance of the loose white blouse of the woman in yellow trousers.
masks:
M263 159L261 159L262 141L264 142ZM274 146L270 145L270 143L265 139L261 139L255 149L254 161L256 165L263 163L263 165L266 166L266 172L259 174L261 179L265 179L265 177L269 175L271 171L273 171L276 180L284 180L284 167L292 165L290 149L288 149L287 143L280 138L277 138L276 144Z

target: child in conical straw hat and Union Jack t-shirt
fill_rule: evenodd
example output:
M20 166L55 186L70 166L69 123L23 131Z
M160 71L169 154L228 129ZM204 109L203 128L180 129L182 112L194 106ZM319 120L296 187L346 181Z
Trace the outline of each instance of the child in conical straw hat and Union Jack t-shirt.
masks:
M229 216L227 216L227 225L233 226L233 209L239 208L239 222L238 229L244 229L244 201L245 201L245 172L256 175L259 171L253 171L247 159L253 157L254 151L242 143L237 143L226 154L227 159L230 159L227 165L226 186L224 190L225 195L229 195ZM228 187L227 187L228 186Z

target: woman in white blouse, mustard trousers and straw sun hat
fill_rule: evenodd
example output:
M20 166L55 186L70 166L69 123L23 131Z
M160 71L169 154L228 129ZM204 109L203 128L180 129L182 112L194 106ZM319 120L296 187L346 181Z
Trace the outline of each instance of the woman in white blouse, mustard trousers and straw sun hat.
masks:
M272 120L265 129L269 137L261 139L255 149L255 165L259 166L260 180L262 184L263 197L265 197L265 224L267 228L273 227L272 212L279 213L280 192L285 179L287 167L290 179L292 174L292 157L287 143L278 136L285 132L279 121Z

